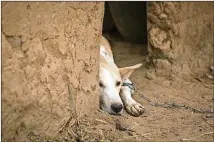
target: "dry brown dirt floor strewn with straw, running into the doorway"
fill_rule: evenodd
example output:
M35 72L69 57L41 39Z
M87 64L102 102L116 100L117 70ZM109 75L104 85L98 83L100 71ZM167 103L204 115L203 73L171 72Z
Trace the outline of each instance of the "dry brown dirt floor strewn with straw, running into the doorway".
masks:
M115 62L119 67L137 63L144 65L134 71L131 80L143 95L158 103L174 102L203 110L213 110L213 79L185 77L173 80L150 77L142 56L143 46L133 45L120 38L110 38ZM133 117L125 111L121 116L97 112L94 119L86 118L79 126L79 139L84 141L213 141L213 114L194 113L190 109L151 106L135 93L133 97L143 104L145 112ZM69 132L69 133L67 133ZM68 128L61 140L75 136L77 130ZM66 139L65 139L66 136Z

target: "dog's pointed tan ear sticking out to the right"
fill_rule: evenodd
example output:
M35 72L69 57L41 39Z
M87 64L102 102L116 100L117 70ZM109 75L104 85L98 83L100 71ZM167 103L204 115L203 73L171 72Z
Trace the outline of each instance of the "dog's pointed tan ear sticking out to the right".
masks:
M140 63L140 64L136 64L136 65L130 66L130 67L119 68L122 80L128 79L130 77L130 75L132 74L132 72L141 66L142 66L142 64Z

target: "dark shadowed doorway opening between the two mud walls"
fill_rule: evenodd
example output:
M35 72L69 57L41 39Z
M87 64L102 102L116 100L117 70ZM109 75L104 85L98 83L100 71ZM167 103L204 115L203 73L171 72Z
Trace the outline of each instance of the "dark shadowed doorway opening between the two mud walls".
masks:
M147 44L146 2L106 2L103 33L117 33L124 41Z

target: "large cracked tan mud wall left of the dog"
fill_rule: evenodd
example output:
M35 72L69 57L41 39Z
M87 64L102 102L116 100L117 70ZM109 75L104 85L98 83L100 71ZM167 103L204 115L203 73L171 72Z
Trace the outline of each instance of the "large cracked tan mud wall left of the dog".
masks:
M98 109L103 12L103 2L2 3L4 141L54 135L72 97L78 117Z

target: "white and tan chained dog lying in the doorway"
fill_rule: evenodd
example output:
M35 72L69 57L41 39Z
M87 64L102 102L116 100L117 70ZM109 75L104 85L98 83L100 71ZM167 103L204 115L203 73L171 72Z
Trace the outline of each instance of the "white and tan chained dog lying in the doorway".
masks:
M133 115L139 116L144 107L137 103L132 94L132 82L129 80L132 72L142 64L118 68L114 63L109 42L102 36L100 44L100 108L110 114L121 114L123 108Z

